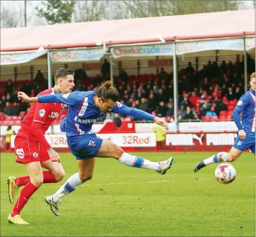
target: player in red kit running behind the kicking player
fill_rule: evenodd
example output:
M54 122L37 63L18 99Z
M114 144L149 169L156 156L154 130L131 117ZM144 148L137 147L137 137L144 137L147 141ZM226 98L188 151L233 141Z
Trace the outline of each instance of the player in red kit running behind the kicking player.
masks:
M74 71L61 68L55 74L55 86L44 90L40 95L70 93L74 87ZM8 195L10 203L14 202L15 193L20 192L13 211L8 216L9 223L29 224L21 218L21 210L28 199L41 184L57 183L64 177L64 169L60 163L58 153L51 148L44 136L47 129L59 116L61 103L40 104L33 103L15 137L16 162L22 163L29 175L25 177L8 177ZM42 167L48 171L42 171Z

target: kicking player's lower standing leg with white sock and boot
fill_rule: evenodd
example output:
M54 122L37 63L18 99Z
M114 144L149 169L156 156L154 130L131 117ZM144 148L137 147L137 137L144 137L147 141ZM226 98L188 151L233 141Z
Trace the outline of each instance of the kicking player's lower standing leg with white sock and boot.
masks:
M59 216L61 198L75 191L80 184L92 179L95 160L96 157L93 157L92 159L79 159L79 172L70 176L66 183L64 183L54 195L45 198L45 202L50 205L53 214Z

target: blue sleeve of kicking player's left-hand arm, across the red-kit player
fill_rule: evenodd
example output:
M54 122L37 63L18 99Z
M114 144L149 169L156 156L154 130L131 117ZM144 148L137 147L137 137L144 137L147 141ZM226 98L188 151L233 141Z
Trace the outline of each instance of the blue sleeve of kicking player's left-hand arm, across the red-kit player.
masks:
M78 92L72 92L67 94L57 94L57 95L41 95L38 96L38 102L39 103L63 103L67 105L74 105L76 96L78 95Z

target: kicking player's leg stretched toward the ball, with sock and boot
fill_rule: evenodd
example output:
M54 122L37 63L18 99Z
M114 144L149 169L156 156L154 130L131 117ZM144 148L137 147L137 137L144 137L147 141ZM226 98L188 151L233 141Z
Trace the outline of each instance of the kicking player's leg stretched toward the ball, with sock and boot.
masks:
M139 156L130 155L114 143L105 140L102 142L97 157L113 157L126 166L151 169L159 174L165 174L171 168L172 163L174 163L173 157L165 161L152 162Z

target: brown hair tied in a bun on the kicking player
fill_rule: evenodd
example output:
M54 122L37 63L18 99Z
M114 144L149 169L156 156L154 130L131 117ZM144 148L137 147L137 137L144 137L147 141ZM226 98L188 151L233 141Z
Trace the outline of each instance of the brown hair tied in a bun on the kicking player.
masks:
M98 98L102 98L103 101L112 100L116 102L119 98L119 93L115 87L112 87L111 81L106 81L101 86L94 88L97 91Z

